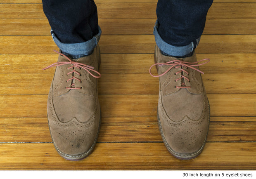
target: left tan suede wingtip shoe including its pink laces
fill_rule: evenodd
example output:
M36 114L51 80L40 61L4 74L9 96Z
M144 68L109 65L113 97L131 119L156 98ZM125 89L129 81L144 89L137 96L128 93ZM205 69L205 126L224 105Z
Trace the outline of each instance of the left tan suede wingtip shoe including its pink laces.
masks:
M100 130L100 49L76 60L60 54L57 63L44 69L52 66L57 66L47 102L52 141L63 158L81 160L92 152Z

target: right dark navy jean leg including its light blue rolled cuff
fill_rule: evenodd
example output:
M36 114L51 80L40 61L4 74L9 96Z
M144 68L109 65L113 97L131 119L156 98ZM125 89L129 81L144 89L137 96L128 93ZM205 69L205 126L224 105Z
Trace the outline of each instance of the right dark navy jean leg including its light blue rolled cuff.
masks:
M178 54L172 55L180 56L197 47L212 2L213 0L159 0L154 28L159 48L167 54L170 54L166 52L169 48L172 53L178 50Z

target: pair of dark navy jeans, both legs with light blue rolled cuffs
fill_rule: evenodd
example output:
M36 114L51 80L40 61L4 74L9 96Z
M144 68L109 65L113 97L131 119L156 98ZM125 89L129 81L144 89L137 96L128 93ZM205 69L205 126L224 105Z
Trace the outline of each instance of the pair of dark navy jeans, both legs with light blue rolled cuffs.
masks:
M62 51L72 55L86 55L97 45L101 30L93 0L42 2L52 28L52 37ZM212 2L213 0L159 0L154 27L158 47L173 56L191 52L199 43Z

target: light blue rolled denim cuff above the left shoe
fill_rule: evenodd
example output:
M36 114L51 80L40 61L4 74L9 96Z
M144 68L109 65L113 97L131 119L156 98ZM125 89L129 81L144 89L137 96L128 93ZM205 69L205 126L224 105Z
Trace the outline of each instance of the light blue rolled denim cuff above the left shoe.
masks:
M89 55L100 40L101 28L99 26L99 33L95 35L91 40L81 43L62 43L52 30L51 33L54 42L63 52L71 55Z

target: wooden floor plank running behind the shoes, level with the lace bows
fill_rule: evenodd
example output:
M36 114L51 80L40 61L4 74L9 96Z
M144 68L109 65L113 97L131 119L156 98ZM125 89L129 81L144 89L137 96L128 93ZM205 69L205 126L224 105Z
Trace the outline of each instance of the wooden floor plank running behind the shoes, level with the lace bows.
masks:
M57 48L56 48L57 49ZM154 52L152 50L152 52ZM154 54L102 54L100 73L149 74L154 64ZM55 68L42 69L57 61L58 54L2 54L0 74L54 75ZM256 54L197 54L197 59L209 58L208 64L200 66L204 73L256 73ZM28 65L29 64L29 65ZM154 68L153 68L154 70ZM39 77L38 77L39 78ZM47 81L51 77L47 78Z

